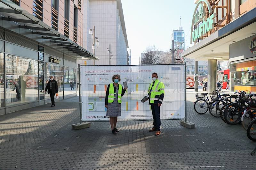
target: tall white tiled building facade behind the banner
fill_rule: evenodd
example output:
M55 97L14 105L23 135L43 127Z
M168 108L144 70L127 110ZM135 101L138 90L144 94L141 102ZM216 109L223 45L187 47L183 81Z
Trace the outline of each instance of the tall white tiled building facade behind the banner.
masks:
M89 30L96 27L99 47L95 48L95 55L100 61L95 65L109 65L109 44L113 55L110 65L127 65L128 40L121 0L84 0L83 23L83 47L90 52L93 52L93 40ZM93 64L90 60L86 63Z

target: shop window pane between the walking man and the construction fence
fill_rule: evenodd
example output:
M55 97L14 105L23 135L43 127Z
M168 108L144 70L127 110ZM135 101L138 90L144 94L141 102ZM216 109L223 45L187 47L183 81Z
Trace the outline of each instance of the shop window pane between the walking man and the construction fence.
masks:
M76 93L76 69L64 67L64 95Z

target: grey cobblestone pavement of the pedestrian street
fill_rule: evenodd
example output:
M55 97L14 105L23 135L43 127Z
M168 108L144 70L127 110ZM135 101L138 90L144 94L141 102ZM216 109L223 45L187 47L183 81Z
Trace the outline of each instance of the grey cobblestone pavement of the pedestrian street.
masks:
M196 114L188 94L188 120L109 122L72 130L79 121L78 97L0 116L0 169L255 169L250 141L241 125L230 126L209 113Z

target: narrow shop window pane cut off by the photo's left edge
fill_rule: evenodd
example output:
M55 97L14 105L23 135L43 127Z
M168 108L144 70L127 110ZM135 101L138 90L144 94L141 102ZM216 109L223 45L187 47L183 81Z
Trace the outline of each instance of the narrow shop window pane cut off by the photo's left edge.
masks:
M0 53L0 107L4 107L4 84L7 88L7 82L4 80L4 53Z

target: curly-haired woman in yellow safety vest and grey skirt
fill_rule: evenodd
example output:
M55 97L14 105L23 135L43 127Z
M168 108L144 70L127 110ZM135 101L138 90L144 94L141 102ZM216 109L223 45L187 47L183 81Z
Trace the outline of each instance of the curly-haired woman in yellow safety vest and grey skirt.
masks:
M108 85L106 91L106 98L105 98L105 107L107 108L107 116L109 116L109 122L111 126L112 133L116 135L116 132L119 132L116 129L116 122L117 116L121 116L121 103L122 103L122 96L126 91L126 87L123 89L123 86L118 84L121 78L119 74L116 74L112 77L112 81L114 83L110 83Z

